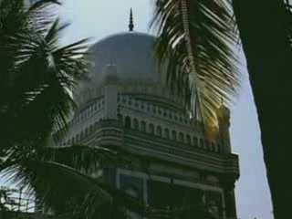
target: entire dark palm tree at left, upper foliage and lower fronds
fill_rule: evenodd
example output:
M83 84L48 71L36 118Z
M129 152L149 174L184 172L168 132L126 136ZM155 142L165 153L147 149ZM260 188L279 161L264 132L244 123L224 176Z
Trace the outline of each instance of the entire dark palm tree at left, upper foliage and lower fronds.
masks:
M67 25L47 16L52 4L58 2L26 8L24 1L0 1L0 172L69 218L104 217L109 206L135 211L141 206L133 198L89 175L104 161L119 161L120 152L50 141L52 132L66 132L75 109L70 89L89 67L87 39L58 45Z

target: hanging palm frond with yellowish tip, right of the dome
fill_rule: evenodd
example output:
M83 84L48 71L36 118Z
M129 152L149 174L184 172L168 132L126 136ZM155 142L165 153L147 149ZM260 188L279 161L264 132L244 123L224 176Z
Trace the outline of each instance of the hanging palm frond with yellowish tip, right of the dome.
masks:
M231 103L240 85L232 21L224 0L156 0L155 53L168 85L204 123L216 124L221 100Z

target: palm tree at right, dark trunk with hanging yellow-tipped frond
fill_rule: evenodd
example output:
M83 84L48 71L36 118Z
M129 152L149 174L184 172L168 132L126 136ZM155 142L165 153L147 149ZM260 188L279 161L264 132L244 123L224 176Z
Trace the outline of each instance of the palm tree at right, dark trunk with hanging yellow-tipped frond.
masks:
M185 97L193 115L207 124L216 123L219 99L230 102L240 84L233 53L239 41L238 27L262 132L274 213L276 218L285 218L290 181L282 170L290 166L287 142L292 104L287 78L292 63L291 11L283 0L156 0L155 8L156 54L168 67L169 85Z

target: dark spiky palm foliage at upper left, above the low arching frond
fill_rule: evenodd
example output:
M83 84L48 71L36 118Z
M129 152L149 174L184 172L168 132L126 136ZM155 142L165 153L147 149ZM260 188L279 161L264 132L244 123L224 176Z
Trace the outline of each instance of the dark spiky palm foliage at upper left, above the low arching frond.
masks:
M69 88L86 76L87 40L57 45L66 26L47 19L46 8L53 2L38 1L30 8L23 1L0 3L2 154L24 141L44 141L52 130L66 127L75 106Z

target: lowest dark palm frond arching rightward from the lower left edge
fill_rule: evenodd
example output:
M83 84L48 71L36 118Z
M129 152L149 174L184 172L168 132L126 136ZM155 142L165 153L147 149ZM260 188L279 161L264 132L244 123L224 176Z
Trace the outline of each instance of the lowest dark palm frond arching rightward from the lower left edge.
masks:
M108 183L93 179L87 174L57 162L11 162L3 172L11 183L26 186L31 195L43 206L57 214L70 213L71 218L93 218L100 209L109 205L113 198L132 211L143 211L143 205L127 193Z

